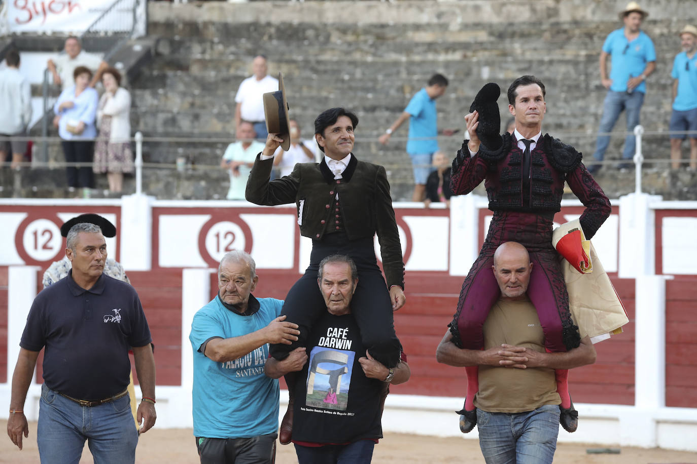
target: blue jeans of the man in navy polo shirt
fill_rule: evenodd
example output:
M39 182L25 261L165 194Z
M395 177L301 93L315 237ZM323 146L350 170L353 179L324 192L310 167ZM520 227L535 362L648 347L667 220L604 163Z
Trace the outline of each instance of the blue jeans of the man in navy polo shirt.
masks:
M79 463L85 440L95 463L135 462L138 432L128 394L88 408L42 385L36 433L41 463Z

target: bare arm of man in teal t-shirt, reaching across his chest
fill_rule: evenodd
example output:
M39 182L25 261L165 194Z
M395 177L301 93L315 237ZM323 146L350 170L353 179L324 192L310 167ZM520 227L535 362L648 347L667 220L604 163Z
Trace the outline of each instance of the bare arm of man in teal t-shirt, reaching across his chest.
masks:
M215 362L233 361L252 353L255 349L267 343L283 343L286 345L295 342L300 335L298 324L284 322L285 316L279 316L268 326L255 332L231 338L211 339L204 349L204 355Z

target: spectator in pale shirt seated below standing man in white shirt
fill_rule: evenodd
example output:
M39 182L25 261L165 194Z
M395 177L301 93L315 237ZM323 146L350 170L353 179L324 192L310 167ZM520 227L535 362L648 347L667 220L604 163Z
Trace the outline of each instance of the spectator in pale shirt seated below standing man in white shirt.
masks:
M220 167L230 175L230 189L227 191L228 200L244 200L247 179L254 166L256 155L263 151L264 144L254 140L256 133L254 125L249 121L241 121L237 125L237 141L227 146L220 160Z

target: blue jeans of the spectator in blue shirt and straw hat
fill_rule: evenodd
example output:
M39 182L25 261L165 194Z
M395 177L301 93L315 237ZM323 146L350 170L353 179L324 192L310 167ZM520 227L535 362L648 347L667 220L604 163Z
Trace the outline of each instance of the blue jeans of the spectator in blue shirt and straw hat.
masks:
M636 140L633 132L634 127L639 123L639 112L643 102L644 93L636 90L632 93L608 90L608 94L603 102L603 116L600 119L599 132L612 131L612 128L615 127L615 122L620 117L620 113L627 111L627 131L632 132L632 134L627 135L627 138L625 138L625 150L622 152L622 159L632 159L634 157ZM598 136L593 158L602 161L608 145L610 145L610 136Z

